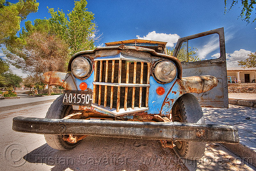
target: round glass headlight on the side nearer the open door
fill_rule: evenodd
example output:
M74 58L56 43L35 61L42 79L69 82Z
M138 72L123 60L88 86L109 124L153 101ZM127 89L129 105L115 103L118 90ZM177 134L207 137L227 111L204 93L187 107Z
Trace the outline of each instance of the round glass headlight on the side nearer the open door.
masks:
M176 66L172 61L163 60L155 67L155 76L159 81L170 82L176 76Z

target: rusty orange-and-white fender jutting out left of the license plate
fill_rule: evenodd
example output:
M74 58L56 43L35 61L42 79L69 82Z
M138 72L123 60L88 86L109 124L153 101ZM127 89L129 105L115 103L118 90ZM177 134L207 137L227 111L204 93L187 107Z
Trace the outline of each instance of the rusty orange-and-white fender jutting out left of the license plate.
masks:
M61 86L66 90L77 90L75 81L69 73L49 71L42 75L41 81L50 86Z

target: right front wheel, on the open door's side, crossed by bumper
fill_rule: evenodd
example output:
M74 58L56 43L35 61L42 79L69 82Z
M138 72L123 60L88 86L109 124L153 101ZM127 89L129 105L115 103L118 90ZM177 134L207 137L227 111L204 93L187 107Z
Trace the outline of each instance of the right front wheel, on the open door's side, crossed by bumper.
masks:
M192 94L181 96L172 108L173 122L205 123L197 98ZM176 141L175 152L188 160L198 160L205 152L204 142Z

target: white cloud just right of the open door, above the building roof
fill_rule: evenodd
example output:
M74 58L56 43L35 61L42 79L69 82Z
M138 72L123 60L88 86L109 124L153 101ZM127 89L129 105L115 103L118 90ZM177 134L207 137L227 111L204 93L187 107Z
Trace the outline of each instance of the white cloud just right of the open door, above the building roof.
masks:
M227 53L227 67L239 67L238 61L244 60L248 58L248 54L250 54L251 51L247 51L244 49L240 49L239 51L234 51L233 53Z

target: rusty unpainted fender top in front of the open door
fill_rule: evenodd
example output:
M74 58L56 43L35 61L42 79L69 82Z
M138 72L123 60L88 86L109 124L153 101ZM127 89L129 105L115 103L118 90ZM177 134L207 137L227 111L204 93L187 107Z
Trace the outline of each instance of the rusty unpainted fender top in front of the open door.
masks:
M215 88L218 79L211 75L183 77L180 86L186 93L203 93Z

